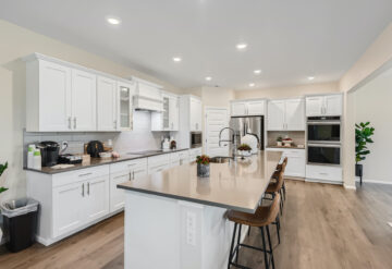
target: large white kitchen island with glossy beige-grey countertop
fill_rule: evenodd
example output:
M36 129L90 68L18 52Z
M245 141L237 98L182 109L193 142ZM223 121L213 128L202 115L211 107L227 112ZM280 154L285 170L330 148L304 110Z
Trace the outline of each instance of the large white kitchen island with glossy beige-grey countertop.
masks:
M280 158L260 151L211 163L207 179L189 163L119 184L126 191L125 268L225 268L233 229L226 209L254 212Z

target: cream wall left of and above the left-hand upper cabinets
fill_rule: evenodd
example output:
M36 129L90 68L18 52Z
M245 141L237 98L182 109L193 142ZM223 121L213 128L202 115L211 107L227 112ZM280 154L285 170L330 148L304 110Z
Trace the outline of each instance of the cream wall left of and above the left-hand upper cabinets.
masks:
M40 52L120 77L135 75L160 84L166 90L181 93L180 88L147 74L1 20L0 40L0 163L9 161L9 169L1 176L0 185L5 184L10 188L0 195L0 200L25 195L25 173L22 168L26 82L22 57ZM155 140L152 136L149 137L150 142Z

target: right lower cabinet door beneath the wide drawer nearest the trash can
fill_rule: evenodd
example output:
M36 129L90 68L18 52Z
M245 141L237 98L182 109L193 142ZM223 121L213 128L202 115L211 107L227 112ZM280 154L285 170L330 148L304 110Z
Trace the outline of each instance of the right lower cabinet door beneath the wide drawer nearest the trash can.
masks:
M86 183L85 216L91 222L109 213L109 175L102 175Z

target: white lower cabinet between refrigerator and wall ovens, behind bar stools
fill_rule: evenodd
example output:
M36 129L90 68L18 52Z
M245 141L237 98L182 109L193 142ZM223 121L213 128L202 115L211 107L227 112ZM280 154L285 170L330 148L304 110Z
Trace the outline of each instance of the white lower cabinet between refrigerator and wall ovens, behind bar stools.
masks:
M305 178L306 157L305 149L295 148L267 148L268 151L282 151L282 157L287 157L284 172L286 176Z

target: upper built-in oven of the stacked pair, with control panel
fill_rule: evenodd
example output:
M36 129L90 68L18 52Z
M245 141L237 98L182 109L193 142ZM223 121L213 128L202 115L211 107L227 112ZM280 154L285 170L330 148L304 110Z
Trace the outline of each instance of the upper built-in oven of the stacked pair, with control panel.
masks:
M340 117L309 117L307 119L307 142L327 144L340 143Z

